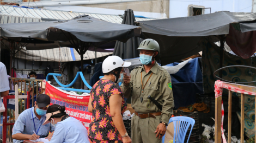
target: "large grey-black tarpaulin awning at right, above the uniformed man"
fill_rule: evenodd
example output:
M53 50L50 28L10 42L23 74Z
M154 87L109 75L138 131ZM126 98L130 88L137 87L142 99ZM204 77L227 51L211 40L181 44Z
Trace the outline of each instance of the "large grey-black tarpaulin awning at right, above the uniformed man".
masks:
M239 24L241 32L256 30L256 14L215 12L212 14L136 22L144 38L160 44L161 63L176 62L202 51L202 36L229 34L231 23Z

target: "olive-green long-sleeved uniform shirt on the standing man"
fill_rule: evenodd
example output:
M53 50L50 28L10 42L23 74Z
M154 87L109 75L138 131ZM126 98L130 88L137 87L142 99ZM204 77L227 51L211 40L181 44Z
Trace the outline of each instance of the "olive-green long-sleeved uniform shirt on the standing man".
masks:
M141 73L144 91L142 93ZM150 77L151 73L153 75ZM145 83L149 79L147 85ZM131 71L130 85L121 85L125 98L132 96L131 105L137 113L153 113L162 112L161 121L168 124L170 116L173 114L173 91L170 75L166 69L159 66L158 63L150 69L148 73L145 72L144 66L136 67ZM150 101L150 107L147 107L148 96L151 95L153 98L162 105L162 111ZM143 98L141 102L140 98Z

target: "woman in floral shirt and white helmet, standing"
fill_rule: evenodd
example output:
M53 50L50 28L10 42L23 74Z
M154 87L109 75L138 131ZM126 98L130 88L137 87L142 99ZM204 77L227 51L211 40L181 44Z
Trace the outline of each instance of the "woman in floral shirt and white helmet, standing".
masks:
M95 83L90 92L88 110L93 113L88 130L90 142L131 142L122 117L127 104L117 84L123 80L123 67L130 65L118 56L109 56L103 61L104 77Z

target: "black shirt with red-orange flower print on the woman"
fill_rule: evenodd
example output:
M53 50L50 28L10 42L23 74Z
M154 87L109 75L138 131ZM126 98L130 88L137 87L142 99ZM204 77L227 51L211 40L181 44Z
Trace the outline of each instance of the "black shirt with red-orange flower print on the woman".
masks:
M117 83L101 79L93 86L90 92L93 117L88 130L89 138L96 140L122 140L110 115L109 96L114 94L121 94L123 98L121 106L121 114L123 115L127 103L124 101L123 92Z

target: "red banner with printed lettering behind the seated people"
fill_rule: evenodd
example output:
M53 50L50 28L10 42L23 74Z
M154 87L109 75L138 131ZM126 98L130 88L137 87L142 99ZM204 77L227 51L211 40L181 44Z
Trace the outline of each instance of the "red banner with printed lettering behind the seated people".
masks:
M90 96L80 95L65 92L46 82L45 94L51 98L51 105L57 104L66 107L66 113L79 120L84 127L88 129L92 113L88 112L88 103Z

